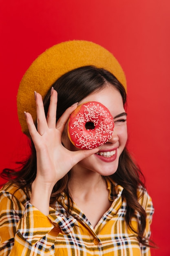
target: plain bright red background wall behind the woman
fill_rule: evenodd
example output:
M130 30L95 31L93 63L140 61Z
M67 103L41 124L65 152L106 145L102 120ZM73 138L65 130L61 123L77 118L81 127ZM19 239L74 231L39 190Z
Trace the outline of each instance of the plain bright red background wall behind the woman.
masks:
M0 170L26 154L16 94L31 62L65 40L106 47L128 81L128 146L155 206L152 255L169 256L170 1L0 0L0 38Z

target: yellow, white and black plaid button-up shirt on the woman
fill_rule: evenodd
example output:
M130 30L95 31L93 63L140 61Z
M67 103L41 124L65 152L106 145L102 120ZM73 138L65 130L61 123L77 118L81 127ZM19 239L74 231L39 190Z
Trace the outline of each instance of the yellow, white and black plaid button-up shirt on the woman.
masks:
M45 216L26 202L24 191L4 186L0 191L0 256L150 256L150 249L140 245L126 225L123 188L108 180L108 189L112 206L93 228L76 204L71 216L65 217L64 193ZM143 197L140 193L139 189L139 202L147 214L145 236L150 237L152 201L147 192ZM139 220L136 213L132 218L135 229Z

